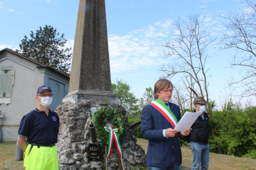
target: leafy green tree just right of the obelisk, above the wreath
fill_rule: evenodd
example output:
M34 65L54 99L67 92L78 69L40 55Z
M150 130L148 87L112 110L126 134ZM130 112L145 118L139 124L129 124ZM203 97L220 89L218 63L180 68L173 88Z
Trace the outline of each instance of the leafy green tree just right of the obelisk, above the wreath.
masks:
M118 104L123 106L127 114L133 114L138 110L136 103L138 99L130 92L130 85L122 80L111 84L112 92L118 97Z

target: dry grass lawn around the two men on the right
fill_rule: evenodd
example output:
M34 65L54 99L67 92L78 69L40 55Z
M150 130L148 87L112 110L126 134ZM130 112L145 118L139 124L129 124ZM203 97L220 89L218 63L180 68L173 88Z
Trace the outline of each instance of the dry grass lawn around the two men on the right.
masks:
M147 153L148 140L137 138L137 144ZM210 145L211 147L211 145ZM182 166L191 168L192 153L191 149L187 147L181 148L182 152ZM238 158L234 156L210 153L209 170L256 170L256 160L250 158Z

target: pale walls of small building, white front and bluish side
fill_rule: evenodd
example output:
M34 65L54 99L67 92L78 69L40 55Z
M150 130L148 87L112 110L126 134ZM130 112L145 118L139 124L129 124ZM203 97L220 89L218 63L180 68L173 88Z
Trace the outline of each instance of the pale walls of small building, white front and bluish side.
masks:
M15 72L11 103L0 104L2 142L17 140L22 117L38 106L35 98L39 86L54 86L51 87L54 90L53 100L55 102L50 106L52 110L56 109L68 93L69 79L67 77L47 68L37 68L38 66L42 65L25 59L19 54L7 50L0 53L0 71L11 68ZM2 115L4 115L3 118L1 118Z

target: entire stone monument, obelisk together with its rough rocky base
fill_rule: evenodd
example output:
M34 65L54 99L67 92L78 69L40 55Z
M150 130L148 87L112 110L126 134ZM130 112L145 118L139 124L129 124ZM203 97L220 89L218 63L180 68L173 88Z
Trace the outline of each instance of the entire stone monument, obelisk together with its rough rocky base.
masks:
M68 95L56 109L60 118L56 144L59 169L142 169L145 152L136 144L125 110L111 92L105 0L79 2L69 85ZM89 130L94 112L109 105L117 106L125 118L122 161L113 147L105 162L104 146L93 141Z

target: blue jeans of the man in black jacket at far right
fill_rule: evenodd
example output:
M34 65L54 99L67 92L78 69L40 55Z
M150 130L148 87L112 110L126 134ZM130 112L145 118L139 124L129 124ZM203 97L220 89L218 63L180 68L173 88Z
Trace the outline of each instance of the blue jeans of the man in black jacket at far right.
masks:
M201 170L208 170L209 166L209 143L207 145L190 142L193 155L193 163L191 170L199 170L201 163Z

